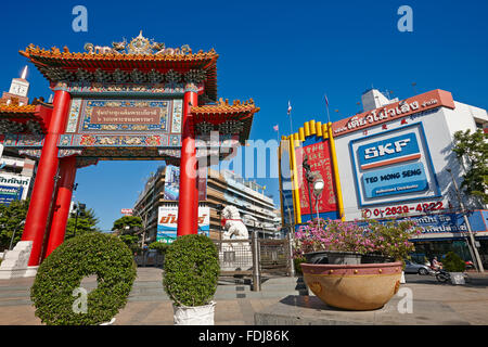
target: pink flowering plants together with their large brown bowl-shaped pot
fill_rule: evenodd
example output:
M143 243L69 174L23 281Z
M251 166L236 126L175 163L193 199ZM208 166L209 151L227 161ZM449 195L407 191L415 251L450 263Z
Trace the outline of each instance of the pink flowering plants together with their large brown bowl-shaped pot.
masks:
M296 233L295 253L326 255L325 264L301 264L307 286L325 304L371 310L383 307L398 291L403 259L413 250L408 240L415 233L420 230L410 220L371 220L363 227L335 220L311 222ZM344 253L344 260L329 261L331 252ZM356 256L355 262L347 261L350 255Z

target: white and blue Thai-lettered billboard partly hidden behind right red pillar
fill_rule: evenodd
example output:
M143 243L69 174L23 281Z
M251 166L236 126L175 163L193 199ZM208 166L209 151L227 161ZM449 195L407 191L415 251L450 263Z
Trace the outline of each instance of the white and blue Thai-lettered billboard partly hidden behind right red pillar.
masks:
M157 214L156 241L172 243L177 237L178 229L178 205L159 206ZM198 206L198 233L209 236L210 232L210 207Z

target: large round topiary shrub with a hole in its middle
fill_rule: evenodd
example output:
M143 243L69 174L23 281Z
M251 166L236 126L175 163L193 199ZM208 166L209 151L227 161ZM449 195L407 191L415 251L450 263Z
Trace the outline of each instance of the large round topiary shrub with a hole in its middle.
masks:
M75 310L81 280L95 274L98 287L86 311ZM110 321L125 307L136 279L129 247L118 237L89 233L67 240L39 266L30 298L49 325L90 325Z

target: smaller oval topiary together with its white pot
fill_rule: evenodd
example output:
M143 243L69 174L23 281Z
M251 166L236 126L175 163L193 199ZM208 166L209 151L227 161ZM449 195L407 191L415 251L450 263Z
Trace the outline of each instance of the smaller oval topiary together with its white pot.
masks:
M176 325L214 325L220 273L218 250L202 234L179 236L166 252L163 286L174 301Z

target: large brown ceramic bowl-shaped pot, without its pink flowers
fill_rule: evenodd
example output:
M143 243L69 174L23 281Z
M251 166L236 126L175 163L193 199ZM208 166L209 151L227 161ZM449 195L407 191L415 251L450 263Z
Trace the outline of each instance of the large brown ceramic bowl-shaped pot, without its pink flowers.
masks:
M300 266L307 286L323 303L362 311L382 308L398 292L402 264Z

